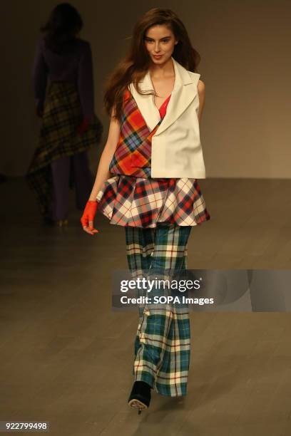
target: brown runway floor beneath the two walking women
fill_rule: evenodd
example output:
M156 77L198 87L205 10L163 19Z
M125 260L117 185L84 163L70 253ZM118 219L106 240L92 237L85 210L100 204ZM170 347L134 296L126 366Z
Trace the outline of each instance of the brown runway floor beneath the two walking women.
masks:
M200 181L211 219L194 227L189 269L291 269L291 180ZM190 313L188 395L127 405L138 314L111 310L126 269L124 229L45 227L21 177L0 185L0 420L50 434L289 436L291 314Z

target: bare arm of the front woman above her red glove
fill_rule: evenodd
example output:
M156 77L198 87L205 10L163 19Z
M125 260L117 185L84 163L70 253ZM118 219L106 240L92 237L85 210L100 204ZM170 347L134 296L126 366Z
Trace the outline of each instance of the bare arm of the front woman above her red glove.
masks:
M111 123L109 125L108 138L98 164L96 180L89 197L90 201L96 201L97 194L102 189L104 182L111 177L109 165L113 158L114 152L116 151L116 146L118 144L119 135L121 132L121 125L116 118L113 118L113 113L114 110L111 112Z

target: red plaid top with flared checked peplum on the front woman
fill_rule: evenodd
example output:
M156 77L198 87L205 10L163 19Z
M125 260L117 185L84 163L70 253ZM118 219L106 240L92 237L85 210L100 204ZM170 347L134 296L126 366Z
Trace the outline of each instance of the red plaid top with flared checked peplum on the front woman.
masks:
M156 227L157 222L195 226L210 219L196 179L150 177L151 137L166 113L170 95L160 106L160 121L150 132L130 91L125 93L121 135L96 200L110 224ZM115 174L115 175L114 175Z

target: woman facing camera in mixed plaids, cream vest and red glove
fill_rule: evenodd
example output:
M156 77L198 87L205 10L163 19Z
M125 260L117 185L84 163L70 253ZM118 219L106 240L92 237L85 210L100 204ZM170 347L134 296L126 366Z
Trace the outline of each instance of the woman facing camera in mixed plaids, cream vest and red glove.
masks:
M178 16L155 8L136 24L130 51L107 83L108 140L81 223L96 234L98 209L123 226L128 267L139 275L185 270L190 230L210 219L197 180L205 178L199 60ZM151 389L186 395L189 363L188 310L144 306L128 404L148 408Z

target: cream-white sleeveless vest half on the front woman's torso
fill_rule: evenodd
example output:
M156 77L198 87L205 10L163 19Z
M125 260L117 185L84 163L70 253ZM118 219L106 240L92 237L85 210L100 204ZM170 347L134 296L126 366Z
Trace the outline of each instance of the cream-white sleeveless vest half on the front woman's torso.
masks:
M187 71L172 56L175 83L167 112L151 143L151 177L205 179L199 130L198 80L200 74ZM139 82L141 90L153 90L150 73ZM128 85L149 130L160 120L153 95L141 95Z

